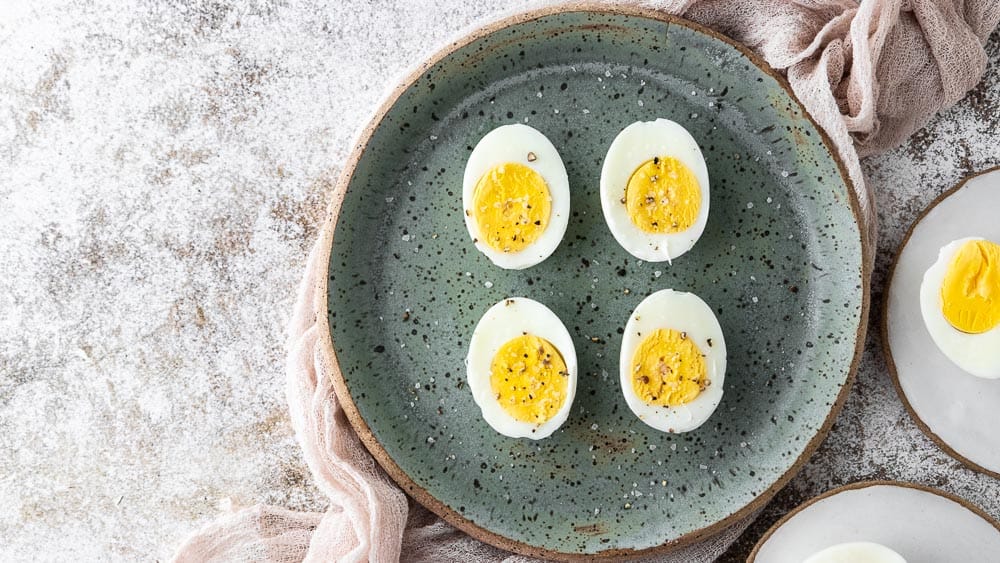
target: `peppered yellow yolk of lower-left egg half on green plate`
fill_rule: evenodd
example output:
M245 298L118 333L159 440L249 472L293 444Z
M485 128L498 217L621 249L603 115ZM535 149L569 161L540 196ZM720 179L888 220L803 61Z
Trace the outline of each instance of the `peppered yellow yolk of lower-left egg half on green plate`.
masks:
M490 387L504 411L542 424L566 401L569 372L551 342L532 334L508 340L490 363Z

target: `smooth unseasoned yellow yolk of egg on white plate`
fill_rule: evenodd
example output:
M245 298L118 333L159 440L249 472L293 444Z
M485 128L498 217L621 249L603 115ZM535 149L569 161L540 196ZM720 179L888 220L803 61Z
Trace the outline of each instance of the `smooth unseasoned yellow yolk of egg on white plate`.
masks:
M1000 324L1000 244L970 240L958 249L941 284L941 312L970 334Z

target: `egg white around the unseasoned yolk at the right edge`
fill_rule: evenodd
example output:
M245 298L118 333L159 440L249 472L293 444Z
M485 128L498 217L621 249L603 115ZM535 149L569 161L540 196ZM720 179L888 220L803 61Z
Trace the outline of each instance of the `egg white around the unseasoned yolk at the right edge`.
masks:
M982 237L968 237L946 244L920 282L920 315L938 349L955 365L977 377L1000 378L1000 326L979 334L951 326L941 311L941 285L948 266L963 244Z

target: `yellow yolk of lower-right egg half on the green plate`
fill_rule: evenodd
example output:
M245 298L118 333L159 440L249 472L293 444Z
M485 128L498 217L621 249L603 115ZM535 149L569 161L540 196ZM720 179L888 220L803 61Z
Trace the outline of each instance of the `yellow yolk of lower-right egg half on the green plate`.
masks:
M687 333L658 329L632 356L632 389L648 405L690 403L707 385L705 358Z

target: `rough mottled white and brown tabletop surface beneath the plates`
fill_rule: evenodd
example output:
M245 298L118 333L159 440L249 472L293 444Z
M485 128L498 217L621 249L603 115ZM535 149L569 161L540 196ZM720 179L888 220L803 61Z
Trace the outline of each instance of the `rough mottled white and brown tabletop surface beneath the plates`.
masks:
M0 559L165 559L220 510L321 510L288 423L283 327L325 198L388 88L527 5L0 0ZM485 3L484 3L485 4ZM836 485L897 478L1000 517L944 455L877 334L926 203L1000 163L1000 41L957 107L869 159L868 348L830 437L726 560Z

